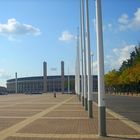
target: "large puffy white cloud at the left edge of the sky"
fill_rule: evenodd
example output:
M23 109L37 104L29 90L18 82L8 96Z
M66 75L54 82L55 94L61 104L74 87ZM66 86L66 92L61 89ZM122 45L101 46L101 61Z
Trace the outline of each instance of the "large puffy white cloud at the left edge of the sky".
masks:
M23 24L16 19L8 19L6 24L0 23L0 34L8 36L9 39L14 39L18 36L25 35L40 35L41 31L29 24Z

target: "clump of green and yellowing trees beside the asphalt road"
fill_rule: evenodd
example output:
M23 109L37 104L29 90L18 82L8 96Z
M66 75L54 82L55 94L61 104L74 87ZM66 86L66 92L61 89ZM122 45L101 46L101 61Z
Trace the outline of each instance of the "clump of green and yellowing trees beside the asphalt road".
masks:
M106 89L111 92L140 92L140 43L123 61L119 71L115 69L105 75Z

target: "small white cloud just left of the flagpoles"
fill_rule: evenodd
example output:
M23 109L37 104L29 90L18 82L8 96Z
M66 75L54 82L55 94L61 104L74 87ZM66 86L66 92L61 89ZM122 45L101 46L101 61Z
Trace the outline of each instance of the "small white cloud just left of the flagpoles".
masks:
M59 40L63 42L69 42L72 41L73 39L75 39L75 36L72 35L69 31L63 31L61 33L61 36L59 37Z

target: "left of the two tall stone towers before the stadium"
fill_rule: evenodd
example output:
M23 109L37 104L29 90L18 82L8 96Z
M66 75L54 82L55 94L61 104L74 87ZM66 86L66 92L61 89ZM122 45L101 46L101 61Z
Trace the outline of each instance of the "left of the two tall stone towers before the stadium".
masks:
M43 92L47 92L47 63L43 62Z

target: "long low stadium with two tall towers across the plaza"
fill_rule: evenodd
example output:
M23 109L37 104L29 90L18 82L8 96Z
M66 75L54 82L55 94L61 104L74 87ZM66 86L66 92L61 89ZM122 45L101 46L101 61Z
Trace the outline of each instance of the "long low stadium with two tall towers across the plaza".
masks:
M8 93L47 93L70 92L75 90L75 75L64 74L64 62L61 62L61 75L47 76L47 63L43 62L43 76L23 77L7 80ZM97 91L97 76L93 76L93 91Z

